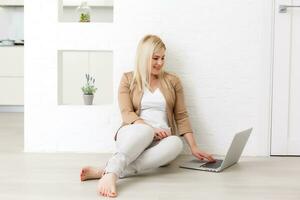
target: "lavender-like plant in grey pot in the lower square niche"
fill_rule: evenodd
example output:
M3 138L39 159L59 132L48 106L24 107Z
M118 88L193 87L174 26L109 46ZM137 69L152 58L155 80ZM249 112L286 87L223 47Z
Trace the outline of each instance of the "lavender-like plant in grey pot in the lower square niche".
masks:
M85 105L92 105L94 99L94 93L96 92L97 88L95 88L95 78L93 78L89 74L85 74L86 83L81 88L83 92L83 101Z

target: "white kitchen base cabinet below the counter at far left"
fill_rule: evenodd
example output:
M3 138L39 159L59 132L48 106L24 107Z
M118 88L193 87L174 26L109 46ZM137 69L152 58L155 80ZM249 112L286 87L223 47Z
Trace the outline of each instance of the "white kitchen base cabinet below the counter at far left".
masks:
M24 48L0 47L0 105L23 105Z

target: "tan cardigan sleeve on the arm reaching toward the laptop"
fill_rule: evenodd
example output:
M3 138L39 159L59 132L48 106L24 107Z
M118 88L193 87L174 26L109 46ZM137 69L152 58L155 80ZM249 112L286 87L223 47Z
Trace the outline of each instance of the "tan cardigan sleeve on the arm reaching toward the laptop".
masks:
M193 130L185 106L183 87L178 77L176 77L174 88L175 88L174 118L177 125L178 133L180 136L183 136L185 133L193 132Z

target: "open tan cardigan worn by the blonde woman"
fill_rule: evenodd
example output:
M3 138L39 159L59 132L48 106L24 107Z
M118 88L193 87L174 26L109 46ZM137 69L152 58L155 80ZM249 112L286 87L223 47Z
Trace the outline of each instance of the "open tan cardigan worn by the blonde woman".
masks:
M140 91L137 87L130 90L132 78L133 72L124 73L119 86L118 101L123 120L122 126L133 124L136 120L141 119L139 115L143 91ZM185 133L193 132L184 103L180 79L176 75L167 72L165 72L165 79L172 89L165 88L163 84L160 84L159 89L166 99L168 125L171 127L171 133L182 136ZM115 139L116 136L117 134Z

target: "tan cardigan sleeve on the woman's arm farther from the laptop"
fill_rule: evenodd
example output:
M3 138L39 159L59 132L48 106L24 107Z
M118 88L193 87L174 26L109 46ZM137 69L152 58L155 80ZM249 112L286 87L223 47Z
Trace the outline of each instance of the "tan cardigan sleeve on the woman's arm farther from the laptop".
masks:
M130 82L124 73L118 91L119 108L122 120L125 124L132 124L136 120L141 119L133 109L132 99L130 98Z

